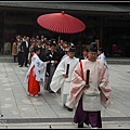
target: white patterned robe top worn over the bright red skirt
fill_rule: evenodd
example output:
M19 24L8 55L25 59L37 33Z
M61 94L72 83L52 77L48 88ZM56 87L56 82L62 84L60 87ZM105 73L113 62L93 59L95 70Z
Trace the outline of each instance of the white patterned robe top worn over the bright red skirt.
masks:
M36 53L31 57L31 64L25 76L25 81L28 82L28 76L32 66L35 66L34 76L36 75L36 80L44 84L47 63L42 62Z

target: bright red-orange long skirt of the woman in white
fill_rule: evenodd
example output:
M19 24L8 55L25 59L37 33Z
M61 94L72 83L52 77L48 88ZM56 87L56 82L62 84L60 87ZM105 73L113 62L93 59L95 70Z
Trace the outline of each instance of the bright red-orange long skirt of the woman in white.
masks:
M38 92L40 92L40 84L39 84L39 81L36 80L36 77L32 76L34 67L35 67L35 65L30 69L30 75L28 78L28 92L30 94L36 95L36 94L38 94Z

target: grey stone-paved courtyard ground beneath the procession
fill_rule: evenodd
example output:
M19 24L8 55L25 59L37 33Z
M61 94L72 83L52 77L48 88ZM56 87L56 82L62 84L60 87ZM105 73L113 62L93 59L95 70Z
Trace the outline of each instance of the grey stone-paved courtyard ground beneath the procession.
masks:
M20 67L12 57L0 57L0 128L76 129L75 109L61 106L60 93L48 93L41 87L40 95L27 95L24 78L27 67ZM130 128L130 65L108 64L112 86L112 105L102 108L103 128ZM87 127L86 127L87 128Z

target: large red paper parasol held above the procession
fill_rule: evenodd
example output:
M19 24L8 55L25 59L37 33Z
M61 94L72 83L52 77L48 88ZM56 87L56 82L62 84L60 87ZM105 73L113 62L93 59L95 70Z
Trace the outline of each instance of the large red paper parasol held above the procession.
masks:
M86 28L86 25L78 18L62 13L44 14L37 18L37 23L49 30L62 34L76 34Z

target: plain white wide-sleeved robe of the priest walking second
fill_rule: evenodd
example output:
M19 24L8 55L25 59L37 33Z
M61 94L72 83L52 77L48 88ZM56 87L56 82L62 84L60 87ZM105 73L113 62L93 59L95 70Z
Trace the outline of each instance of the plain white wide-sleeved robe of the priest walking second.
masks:
M57 65L54 72L50 84L52 91L56 92L61 88L62 96L69 94L72 75L78 63L79 63L79 58L77 57L70 58L69 56L65 57L60 62L60 64ZM66 74L67 64L69 64L69 72L68 72L68 78L65 78L63 74Z

